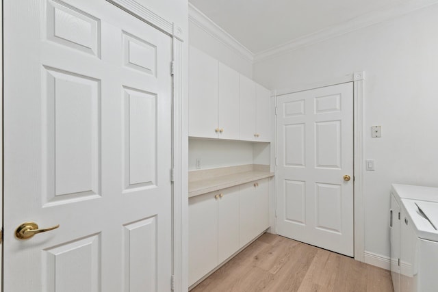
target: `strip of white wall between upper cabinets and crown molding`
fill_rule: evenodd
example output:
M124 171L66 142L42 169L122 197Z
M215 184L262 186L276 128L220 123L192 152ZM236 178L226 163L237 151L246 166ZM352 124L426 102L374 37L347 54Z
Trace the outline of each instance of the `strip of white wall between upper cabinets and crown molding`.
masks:
M244 57L229 49L223 42L220 42L191 21L189 21L189 34L191 46L207 53L242 75L248 78L253 77L253 63L250 60L244 59Z

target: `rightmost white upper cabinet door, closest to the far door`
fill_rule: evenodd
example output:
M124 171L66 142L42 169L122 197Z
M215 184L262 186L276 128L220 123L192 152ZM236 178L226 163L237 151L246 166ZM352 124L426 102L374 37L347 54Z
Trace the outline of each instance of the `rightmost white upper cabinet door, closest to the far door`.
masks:
M263 86L256 85L256 140L270 142L270 91Z

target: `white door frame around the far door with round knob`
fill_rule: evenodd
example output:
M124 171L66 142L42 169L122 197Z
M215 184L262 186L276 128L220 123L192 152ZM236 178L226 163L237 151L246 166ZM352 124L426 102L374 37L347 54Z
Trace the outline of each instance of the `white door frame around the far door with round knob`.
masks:
M364 98L364 81L365 72L359 71L354 72L343 77L334 78L331 80L320 81L316 83L309 83L303 85L296 85L293 88L285 90L274 90L271 97L274 98L274 109L276 112L277 108L277 97L285 94L291 94L296 92L302 92L306 90L312 90L316 88L322 88L331 85L337 85L341 83L353 83L353 226L354 226L354 252L356 261L365 261L365 206L364 206L364 196L363 196L363 98ZM275 138L274 147L271 148L271 157L274 158L272 161L277 161L277 119L276 114L274 116L274 121L272 124L275 127ZM274 163L276 164L276 163ZM275 167L275 173L277 172ZM274 207L272 214L275 214L274 222L276 224L276 209L277 209L277 192L276 192L276 176L275 176L275 198L271 202ZM276 233L276 226L272 228L274 233Z

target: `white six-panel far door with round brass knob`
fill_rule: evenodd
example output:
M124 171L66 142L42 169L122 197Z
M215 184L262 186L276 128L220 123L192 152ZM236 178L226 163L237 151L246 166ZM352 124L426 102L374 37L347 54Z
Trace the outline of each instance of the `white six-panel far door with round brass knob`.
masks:
M277 102L277 232L353 256L352 83Z

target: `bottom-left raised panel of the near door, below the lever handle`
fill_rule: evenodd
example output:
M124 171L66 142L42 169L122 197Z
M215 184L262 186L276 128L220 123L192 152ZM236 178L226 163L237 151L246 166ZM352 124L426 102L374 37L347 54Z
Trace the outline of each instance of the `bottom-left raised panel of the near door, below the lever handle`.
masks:
M100 234L47 248L43 263L46 281L42 291L101 291Z

